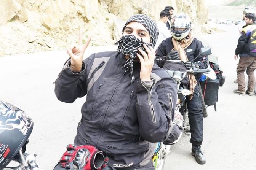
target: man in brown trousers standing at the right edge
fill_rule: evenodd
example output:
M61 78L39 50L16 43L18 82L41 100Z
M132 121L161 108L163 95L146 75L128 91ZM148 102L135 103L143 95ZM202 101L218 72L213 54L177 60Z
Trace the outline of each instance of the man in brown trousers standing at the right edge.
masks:
M238 89L233 92L240 95L253 95L253 86L255 82L254 70L256 68L256 24L255 13L249 13L245 16L246 26L243 27L241 36L238 39L237 48L235 49L235 60L240 54L237 64ZM248 86L245 91L245 75L248 75Z

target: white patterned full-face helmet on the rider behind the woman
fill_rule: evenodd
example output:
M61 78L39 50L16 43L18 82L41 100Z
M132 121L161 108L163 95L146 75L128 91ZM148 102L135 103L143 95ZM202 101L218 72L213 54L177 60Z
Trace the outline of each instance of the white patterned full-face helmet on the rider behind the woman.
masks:
M183 28L182 30L178 28ZM191 19L185 13L179 13L171 19L171 35L175 40L187 37L191 30Z

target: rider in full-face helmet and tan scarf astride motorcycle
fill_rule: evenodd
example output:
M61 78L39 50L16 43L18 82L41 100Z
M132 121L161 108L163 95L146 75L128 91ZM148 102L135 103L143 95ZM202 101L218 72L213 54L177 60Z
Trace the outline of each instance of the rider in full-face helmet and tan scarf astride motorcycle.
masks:
M167 38L158 46L156 52L156 62L163 67L166 60L182 60L187 69L191 67L207 68L208 57L199 55L203 47L202 42L194 38L191 34L191 20L187 14L177 14L171 21L172 38ZM187 50L192 49L192 50ZM191 63L194 60L194 63ZM206 159L201 151L203 141L203 111L201 96L199 95L200 76L189 77L189 89L192 95L187 98L187 108L189 110L189 125L191 132L190 142L192 143L192 155L195 156L198 164L205 164Z

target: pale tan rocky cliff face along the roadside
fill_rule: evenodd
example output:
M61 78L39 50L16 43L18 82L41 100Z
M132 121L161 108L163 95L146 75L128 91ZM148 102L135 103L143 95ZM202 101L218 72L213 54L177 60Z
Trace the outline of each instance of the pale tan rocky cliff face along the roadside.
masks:
M79 29L85 37L93 35L92 45L113 44L130 16L144 13L157 21L165 6L173 6L174 14L189 14L199 25L207 18L204 1L3 0L0 56L64 49L77 41Z

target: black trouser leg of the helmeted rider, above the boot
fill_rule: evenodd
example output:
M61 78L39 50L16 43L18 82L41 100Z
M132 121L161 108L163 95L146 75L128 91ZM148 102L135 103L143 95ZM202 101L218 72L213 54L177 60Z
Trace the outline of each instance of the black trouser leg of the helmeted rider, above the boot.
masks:
M191 132L190 143L192 145L201 145L203 142L203 110L201 96L199 94L199 82L195 86L194 94L191 100L189 96L186 99L189 110L189 125Z

